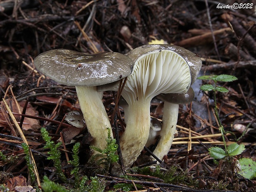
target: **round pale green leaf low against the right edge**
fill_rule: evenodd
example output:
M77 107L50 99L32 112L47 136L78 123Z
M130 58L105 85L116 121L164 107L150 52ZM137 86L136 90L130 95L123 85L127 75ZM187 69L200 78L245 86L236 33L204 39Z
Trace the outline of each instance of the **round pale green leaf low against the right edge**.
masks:
M242 158L239 159L239 163L241 165L241 171L238 173L247 179L255 179L256 178L256 162L251 158Z

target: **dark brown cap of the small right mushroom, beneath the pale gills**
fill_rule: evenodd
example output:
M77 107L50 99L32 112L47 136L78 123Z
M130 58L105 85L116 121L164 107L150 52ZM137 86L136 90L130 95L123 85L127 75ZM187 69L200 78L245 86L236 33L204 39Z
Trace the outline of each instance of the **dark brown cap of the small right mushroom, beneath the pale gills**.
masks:
M194 90L190 87L186 93L159 94L156 97L173 104L186 104L193 101Z

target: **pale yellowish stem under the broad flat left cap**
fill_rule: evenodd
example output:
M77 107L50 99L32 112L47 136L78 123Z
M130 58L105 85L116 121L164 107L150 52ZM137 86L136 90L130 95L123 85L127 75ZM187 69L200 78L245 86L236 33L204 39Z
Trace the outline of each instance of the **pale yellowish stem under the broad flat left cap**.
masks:
M107 112L102 103L102 93L97 87L76 86L79 104L89 133L92 135L92 146L104 149L107 147L107 128L111 128ZM113 134L111 132L111 137Z

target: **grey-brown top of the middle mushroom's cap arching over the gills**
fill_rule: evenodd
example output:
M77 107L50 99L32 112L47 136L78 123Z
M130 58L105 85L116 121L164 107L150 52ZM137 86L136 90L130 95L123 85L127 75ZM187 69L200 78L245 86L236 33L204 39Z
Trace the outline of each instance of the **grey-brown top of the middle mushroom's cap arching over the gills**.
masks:
M177 45L164 45L164 44L150 44L150 45L142 45L137 47L134 50L129 51L126 55L129 56L135 62L138 58L140 58L145 53L153 52L153 51L162 51L162 50L171 50L173 52L178 53L183 59L186 60L187 64L190 67L191 74L191 84L197 79L197 75L202 66L202 60L195 53ZM134 54L136 52L136 54Z

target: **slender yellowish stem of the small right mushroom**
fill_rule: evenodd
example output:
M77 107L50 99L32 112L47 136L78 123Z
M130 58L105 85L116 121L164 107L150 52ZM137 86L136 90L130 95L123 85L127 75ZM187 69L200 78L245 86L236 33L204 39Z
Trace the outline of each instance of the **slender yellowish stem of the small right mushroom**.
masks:
M173 143L178 121L178 113L178 104L164 102L162 126L159 134L161 137L156 149L153 152L161 160L166 154L168 154Z

